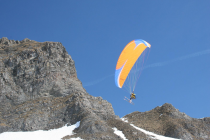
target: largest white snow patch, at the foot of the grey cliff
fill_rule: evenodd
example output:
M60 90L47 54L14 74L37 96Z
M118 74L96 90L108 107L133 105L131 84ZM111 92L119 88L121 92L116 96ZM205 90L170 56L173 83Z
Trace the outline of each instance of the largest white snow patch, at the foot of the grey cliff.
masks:
M0 134L0 140L61 140L67 135L73 135L73 130L79 127L80 122L71 126L63 126L58 129L48 131L27 131L27 132L4 132ZM70 140L82 140L80 138L71 138Z

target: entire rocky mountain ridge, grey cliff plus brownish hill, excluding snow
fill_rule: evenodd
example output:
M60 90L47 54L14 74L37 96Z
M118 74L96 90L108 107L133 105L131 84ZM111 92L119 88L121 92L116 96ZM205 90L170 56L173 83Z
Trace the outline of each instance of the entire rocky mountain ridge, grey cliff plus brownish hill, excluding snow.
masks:
M210 118L194 119L171 104L115 115L112 105L89 95L74 61L59 42L0 39L0 133L49 130L80 121L71 136L85 140L155 139L131 125L187 140L210 139Z

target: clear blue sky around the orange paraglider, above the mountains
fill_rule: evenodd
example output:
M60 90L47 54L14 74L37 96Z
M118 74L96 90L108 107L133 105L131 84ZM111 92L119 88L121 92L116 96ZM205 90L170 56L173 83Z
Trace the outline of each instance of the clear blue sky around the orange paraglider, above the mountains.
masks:
M61 42L87 92L110 102L120 117L164 103L210 117L209 6L209 0L7 0L0 5L0 38ZM131 105L114 73L134 39L151 50Z

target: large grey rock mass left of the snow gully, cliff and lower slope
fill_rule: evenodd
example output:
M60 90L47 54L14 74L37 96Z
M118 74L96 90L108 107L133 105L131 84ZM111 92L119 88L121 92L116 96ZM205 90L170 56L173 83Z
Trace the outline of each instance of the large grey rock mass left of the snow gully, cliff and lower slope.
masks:
M59 42L0 39L0 133L80 126L83 139L121 140L113 127L142 132L115 116L112 105L89 95L77 79L74 61ZM149 138L148 138L149 139Z

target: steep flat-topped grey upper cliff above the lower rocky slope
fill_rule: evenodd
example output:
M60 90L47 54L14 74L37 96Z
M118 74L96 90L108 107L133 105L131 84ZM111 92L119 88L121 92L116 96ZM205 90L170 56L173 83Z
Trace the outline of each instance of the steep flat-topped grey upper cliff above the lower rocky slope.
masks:
M0 106L84 92L74 61L58 42L0 40ZM74 90L74 91L73 91Z

